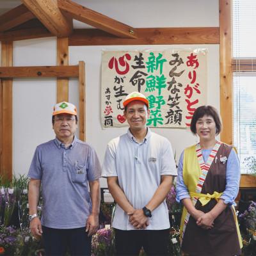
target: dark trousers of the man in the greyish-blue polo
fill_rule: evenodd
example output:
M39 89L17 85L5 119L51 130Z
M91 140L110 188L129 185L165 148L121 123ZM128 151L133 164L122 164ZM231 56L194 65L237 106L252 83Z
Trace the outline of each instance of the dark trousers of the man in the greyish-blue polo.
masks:
M58 229L43 228L43 239L46 256L64 256L67 250L72 256L90 256L92 236L83 228Z

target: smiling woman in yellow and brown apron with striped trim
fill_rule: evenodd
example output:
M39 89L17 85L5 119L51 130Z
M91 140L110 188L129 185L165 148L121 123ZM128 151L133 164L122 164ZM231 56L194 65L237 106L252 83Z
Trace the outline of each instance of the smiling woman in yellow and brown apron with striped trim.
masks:
M189 256L240 255L242 243L234 211L240 180L236 150L216 140L221 121L212 106L196 109L190 129L200 141L186 148L179 161L182 252Z

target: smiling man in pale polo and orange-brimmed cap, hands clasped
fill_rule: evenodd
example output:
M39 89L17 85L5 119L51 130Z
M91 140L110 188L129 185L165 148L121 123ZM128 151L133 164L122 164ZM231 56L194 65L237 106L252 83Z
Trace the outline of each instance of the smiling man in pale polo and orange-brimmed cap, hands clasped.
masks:
M169 217L165 197L177 175L170 142L147 127L148 100L138 92L127 95L126 134L111 140L103 177L116 201L113 227L117 255L168 255Z

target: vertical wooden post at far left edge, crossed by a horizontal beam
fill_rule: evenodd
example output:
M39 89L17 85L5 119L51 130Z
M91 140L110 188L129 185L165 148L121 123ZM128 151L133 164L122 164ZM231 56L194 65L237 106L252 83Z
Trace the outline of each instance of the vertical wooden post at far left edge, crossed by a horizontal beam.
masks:
M13 43L3 41L1 44L1 65L10 67L12 61ZM0 172L12 180L12 79L1 79L1 96Z

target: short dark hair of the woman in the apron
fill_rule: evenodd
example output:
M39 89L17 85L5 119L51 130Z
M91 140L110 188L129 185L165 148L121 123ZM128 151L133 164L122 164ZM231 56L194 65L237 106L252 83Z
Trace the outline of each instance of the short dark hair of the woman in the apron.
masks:
M199 118L202 118L204 115L212 116L216 124L216 134L220 134L222 127L220 116L218 114L217 109L212 106L200 106L195 110L190 124L190 131L193 134L196 134L196 122Z

